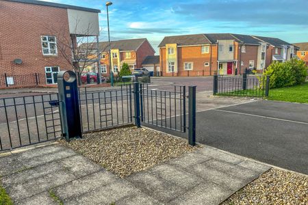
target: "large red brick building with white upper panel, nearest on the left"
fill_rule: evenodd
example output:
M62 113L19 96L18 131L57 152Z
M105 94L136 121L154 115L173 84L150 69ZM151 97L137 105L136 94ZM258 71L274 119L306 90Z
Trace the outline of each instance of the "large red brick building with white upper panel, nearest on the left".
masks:
M64 57L71 51L60 52L59 42L73 42L77 35L85 34L81 30L89 23L91 35L98 36L99 12L44 1L1 0L0 87L5 80L9 85L34 84L35 73L40 85L57 83L57 72L72 69Z

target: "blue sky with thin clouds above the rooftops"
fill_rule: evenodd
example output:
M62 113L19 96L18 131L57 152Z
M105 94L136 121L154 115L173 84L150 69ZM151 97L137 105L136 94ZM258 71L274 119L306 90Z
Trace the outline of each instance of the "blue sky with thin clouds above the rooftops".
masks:
M43 0L101 10L100 40L107 40L107 14L101 0ZM240 33L308 42L308 0L113 0L112 40L147 38L157 51L164 36ZM158 53L157 53L158 54Z

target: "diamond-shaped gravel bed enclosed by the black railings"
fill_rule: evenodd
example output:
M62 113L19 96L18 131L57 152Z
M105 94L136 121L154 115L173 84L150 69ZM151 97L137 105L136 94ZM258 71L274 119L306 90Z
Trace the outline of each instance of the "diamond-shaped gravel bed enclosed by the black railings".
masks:
M64 139L59 142L121 178L198 148L190 146L188 140L134 126L83 137L70 143Z

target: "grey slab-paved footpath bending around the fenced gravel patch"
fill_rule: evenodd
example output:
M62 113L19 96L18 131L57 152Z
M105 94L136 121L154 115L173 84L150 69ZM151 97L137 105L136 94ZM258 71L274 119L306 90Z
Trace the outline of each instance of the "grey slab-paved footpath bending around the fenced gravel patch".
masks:
M57 143L0 154L0 167L14 204L116 205L220 204L270 169L204 146L121 179Z

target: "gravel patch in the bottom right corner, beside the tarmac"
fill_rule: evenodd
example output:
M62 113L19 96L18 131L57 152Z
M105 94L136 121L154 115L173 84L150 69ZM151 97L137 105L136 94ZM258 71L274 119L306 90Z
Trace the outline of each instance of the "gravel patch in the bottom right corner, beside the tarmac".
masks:
M272 168L221 205L308 204L308 177Z

